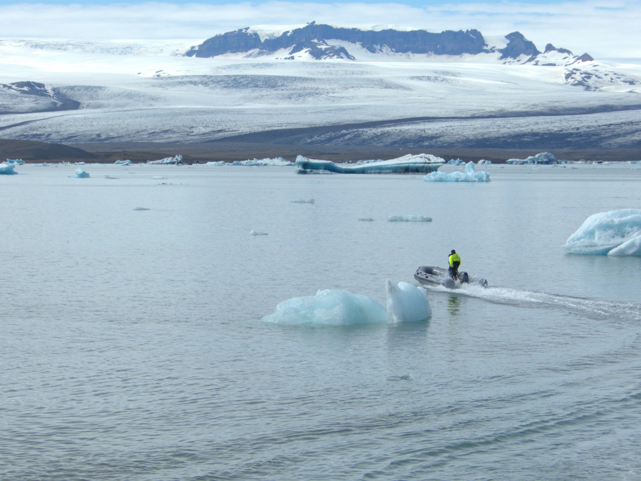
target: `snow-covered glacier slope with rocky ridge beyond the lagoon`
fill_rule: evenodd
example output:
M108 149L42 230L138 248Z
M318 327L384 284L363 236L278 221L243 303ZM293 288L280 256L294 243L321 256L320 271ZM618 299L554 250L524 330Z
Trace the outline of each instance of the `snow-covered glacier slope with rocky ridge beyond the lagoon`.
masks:
M6 138L641 143L641 63L539 50L518 32L312 23L204 42L0 40L0 67Z

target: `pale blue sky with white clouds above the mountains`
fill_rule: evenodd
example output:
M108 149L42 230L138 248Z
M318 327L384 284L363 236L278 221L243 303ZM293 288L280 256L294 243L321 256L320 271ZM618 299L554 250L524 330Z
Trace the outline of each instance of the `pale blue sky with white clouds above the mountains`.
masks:
M262 1L194 3L108 0L71 3L0 0L0 39L201 41L254 25L315 20L370 28L391 24L429 31L520 31L539 49L548 42L595 58L641 57L641 0L571 1Z

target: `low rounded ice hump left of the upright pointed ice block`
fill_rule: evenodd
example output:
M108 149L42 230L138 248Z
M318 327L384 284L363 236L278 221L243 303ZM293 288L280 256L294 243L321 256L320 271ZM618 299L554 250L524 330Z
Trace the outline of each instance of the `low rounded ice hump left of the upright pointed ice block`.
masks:
M276 306L274 314L263 322L278 324L349 325L369 322L384 323L385 307L371 297L349 291L318 291L315 296L294 297Z

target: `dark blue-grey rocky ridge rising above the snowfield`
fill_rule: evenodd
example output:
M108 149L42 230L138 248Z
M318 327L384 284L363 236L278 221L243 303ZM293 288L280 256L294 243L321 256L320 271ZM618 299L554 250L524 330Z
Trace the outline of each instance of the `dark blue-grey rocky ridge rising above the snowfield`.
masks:
M535 44L519 32L506 35L508 44L501 53L501 60L519 58L520 55L540 54ZM344 47L331 47L326 40L342 40L360 44L371 53L389 49L395 53L433 53L437 55L462 55L494 52L488 49L485 39L478 30L445 30L431 33L426 30L399 31L385 29L380 31L360 30L357 28L336 28L311 22L303 28L286 31L275 38L261 40L249 27L221 33L208 38L198 47L187 52L187 56L215 57L227 53L246 53L258 50L260 53L273 53L288 49L288 55L306 50L317 60L326 58L346 58L354 60ZM285 57L288 58L288 57Z

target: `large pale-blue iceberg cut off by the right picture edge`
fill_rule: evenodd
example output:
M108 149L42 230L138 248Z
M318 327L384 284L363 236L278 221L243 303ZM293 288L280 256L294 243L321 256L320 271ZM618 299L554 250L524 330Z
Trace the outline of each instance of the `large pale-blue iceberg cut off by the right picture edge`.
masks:
M641 256L641 210L620 209L589 216L565 243L572 254Z

